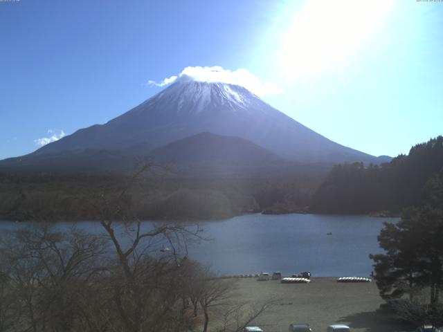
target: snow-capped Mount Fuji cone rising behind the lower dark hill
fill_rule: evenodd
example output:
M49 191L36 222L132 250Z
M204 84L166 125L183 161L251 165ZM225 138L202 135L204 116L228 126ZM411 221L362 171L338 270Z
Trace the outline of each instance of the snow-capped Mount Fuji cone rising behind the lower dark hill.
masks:
M183 76L123 115L105 124L75 131L32 154L3 160L0 168L23 166L32 169L36 165L44 168L50 163L49 160L53 165L54 160L66 158L81 159L87 165L88 160L94 160L94 156L96 159L113 160L127 156L155 158L156 151L161 147L199 133L214 134L224 141L222 145L225 150L228 144L226 136L246 140L251 144L245 147L260 149L263 154L266 152L273 163L275 160L327 164L381 163L389 160L339 145L321 136L266 104L243 86L201 82ZM207 136L197 138L204 145ZM195 145L195 140L190 141ZM213 147L216 149L217 145Z

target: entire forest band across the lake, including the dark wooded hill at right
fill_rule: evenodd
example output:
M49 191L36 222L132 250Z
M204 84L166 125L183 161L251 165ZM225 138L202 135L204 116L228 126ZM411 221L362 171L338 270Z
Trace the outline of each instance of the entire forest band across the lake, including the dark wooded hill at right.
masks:
M390 163L336 165L329 175L179 177L95 174L0 174L0 220L97 220L103 198L120 199L140 219L220 219L250 212L399 215L425 199L443 172L443 136ZM123 197L118 193L129 182Z

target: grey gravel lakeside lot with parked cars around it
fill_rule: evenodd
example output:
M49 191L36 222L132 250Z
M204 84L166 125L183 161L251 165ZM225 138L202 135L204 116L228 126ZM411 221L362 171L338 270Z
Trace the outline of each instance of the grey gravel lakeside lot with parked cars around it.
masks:
M237 286L237 301L280 298L277 306L255 321L265 332L287 332L295 322L307 322L314 332L326 331L334 323L346 324L352 332L407 330L391 317L376 313L383 301L374 282L338 283L336 278L317 277L309 284L281 284L246 278L238 279Z

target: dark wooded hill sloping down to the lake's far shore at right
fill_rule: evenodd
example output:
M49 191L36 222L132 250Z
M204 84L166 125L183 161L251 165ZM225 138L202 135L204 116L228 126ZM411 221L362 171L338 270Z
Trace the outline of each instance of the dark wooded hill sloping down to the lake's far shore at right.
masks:
M370 213L423 203L426 185L443 169L443 136L415 145L390 163L336 165L311 202L315 212Z

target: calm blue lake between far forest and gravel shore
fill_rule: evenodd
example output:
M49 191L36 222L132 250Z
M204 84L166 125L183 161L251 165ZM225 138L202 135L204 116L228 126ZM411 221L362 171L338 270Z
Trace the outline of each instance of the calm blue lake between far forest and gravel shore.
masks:
M210 265L220 275L272 273L283 275L309 270L313 276L368 276L370 253L381 252L377 235L383 221L398 218L327 214L246 214L220 221L202 221L210 241L189 248L189 256ZM23 225L0 222L0 231ZM96 222L82 228L98 232ZM62 222L57 228L69 229ZM327 235L328 232L332 234Z

